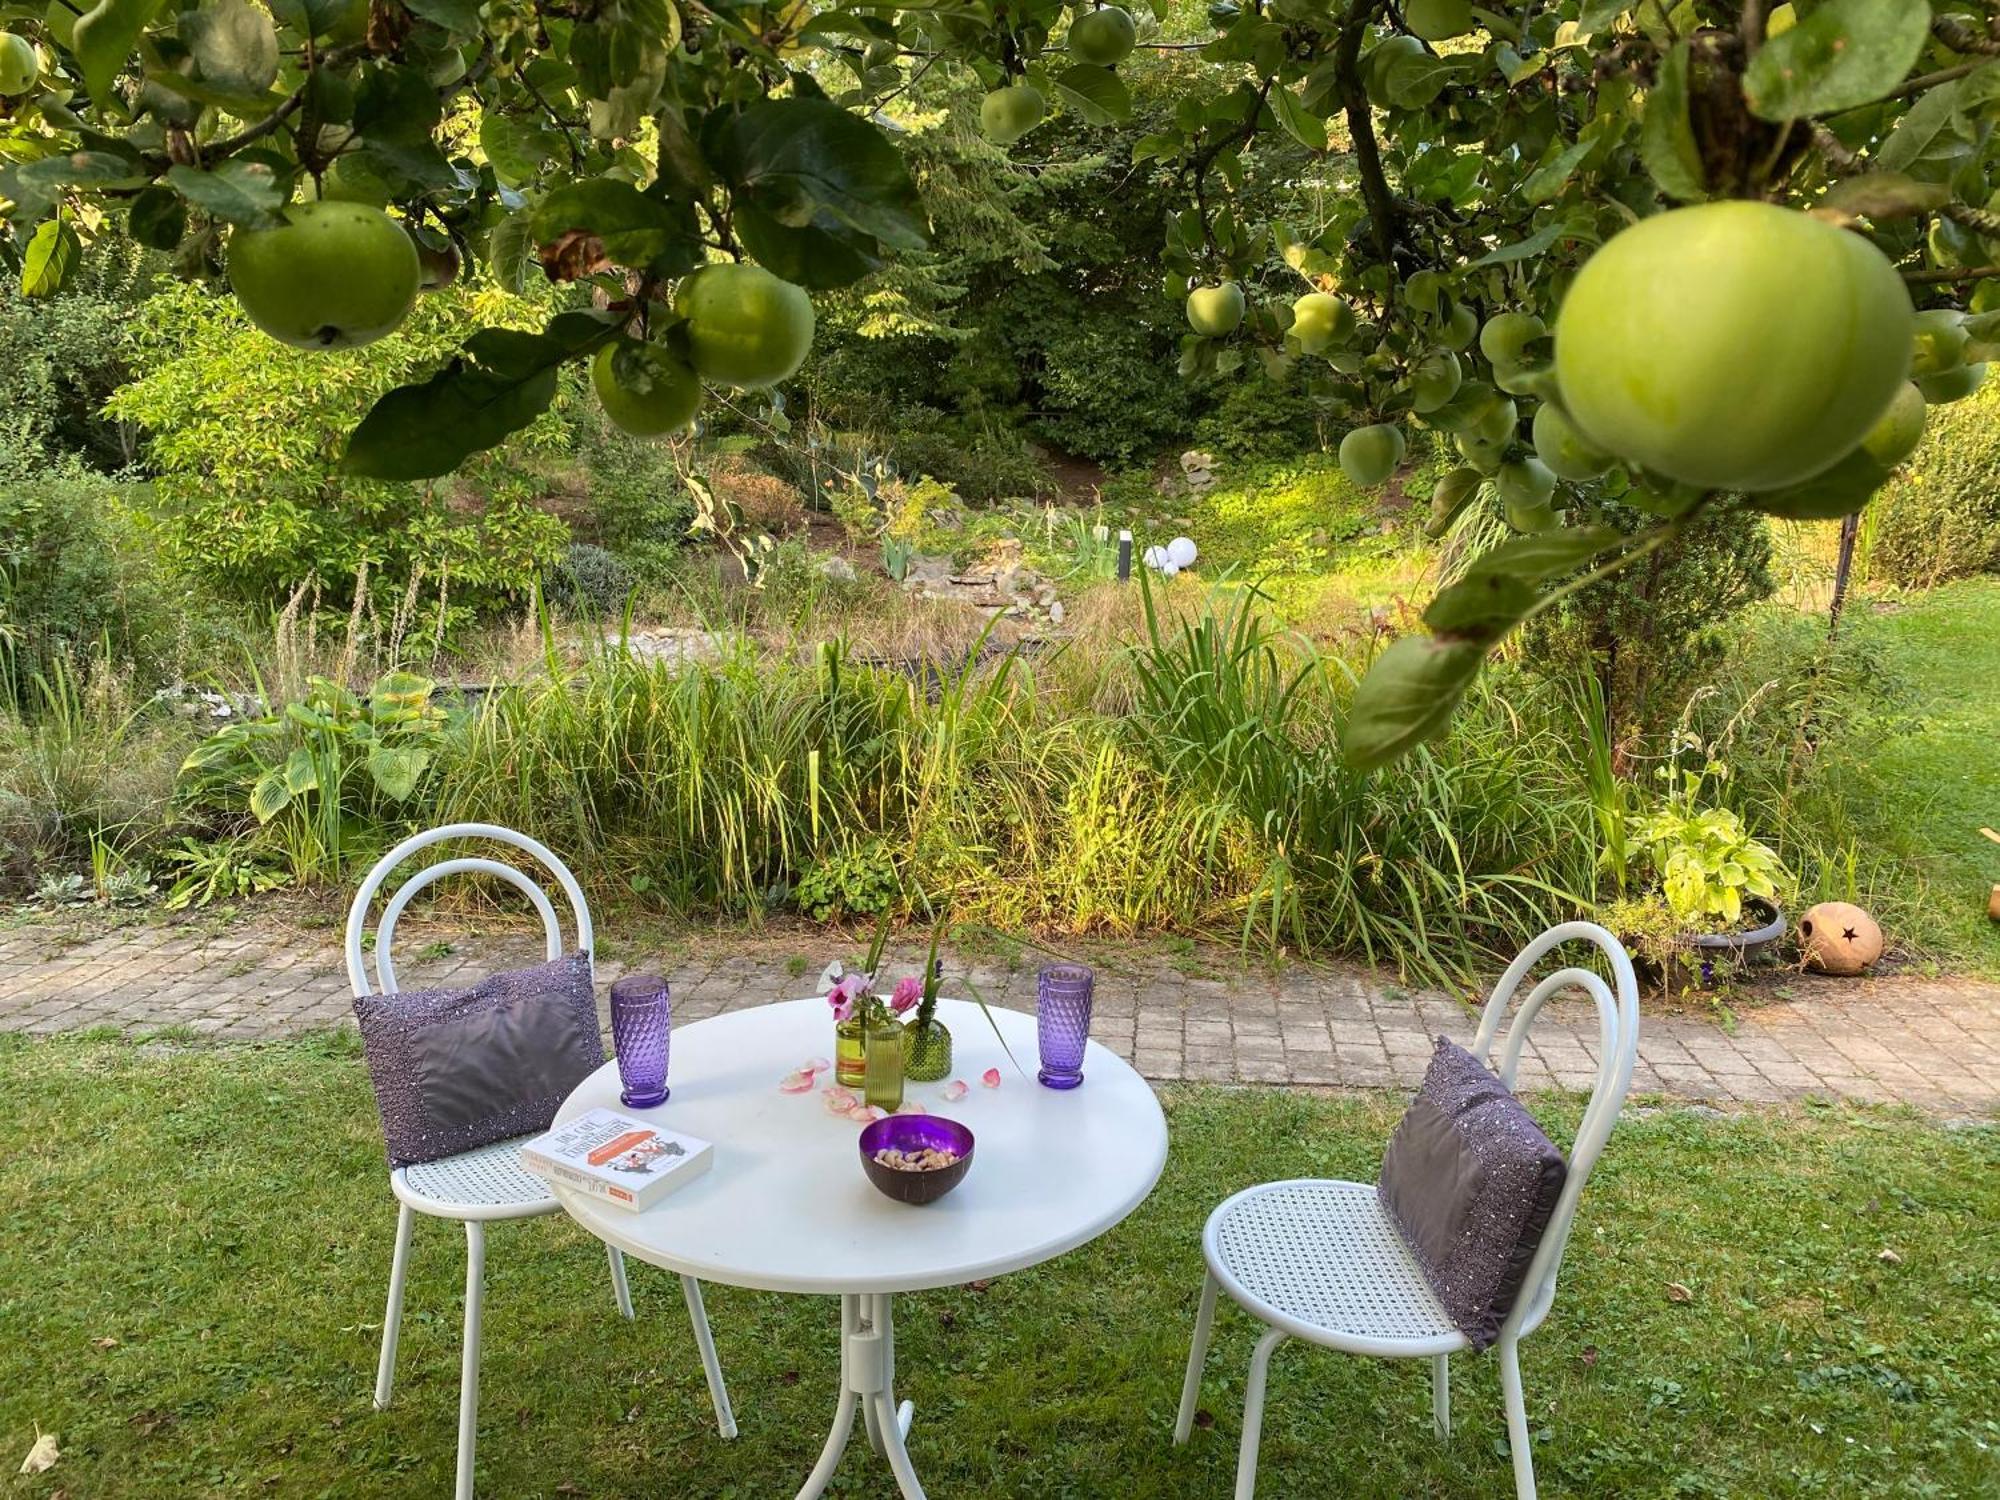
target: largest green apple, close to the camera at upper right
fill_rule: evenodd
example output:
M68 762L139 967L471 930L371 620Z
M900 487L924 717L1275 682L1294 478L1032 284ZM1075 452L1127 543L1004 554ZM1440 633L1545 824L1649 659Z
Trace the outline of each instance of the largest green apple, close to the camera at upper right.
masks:
M1562 404L1596 448L1682 484L1774 490L1822 472L1910 370L1914 312L1888 258L1760 202L1640 220L1556 318Z

